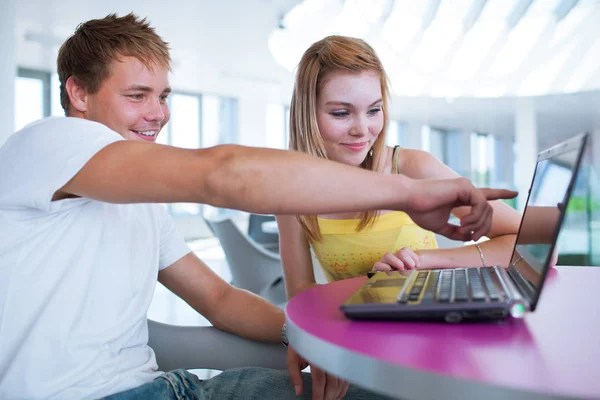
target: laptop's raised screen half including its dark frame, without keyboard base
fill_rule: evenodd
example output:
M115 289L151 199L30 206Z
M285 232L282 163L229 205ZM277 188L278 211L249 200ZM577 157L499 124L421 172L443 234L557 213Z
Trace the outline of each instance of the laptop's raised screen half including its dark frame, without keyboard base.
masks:
M550 265L556 264L556 239L579 168L585 135L538 156L509 273L535 309ZM515 276L516 275L516 276Z

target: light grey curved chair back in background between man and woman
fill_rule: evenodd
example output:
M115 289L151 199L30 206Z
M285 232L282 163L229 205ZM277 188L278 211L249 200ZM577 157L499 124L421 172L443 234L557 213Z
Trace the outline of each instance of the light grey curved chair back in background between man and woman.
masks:
M263 249L242 233L231 218L206 222L221 242L234 286L261 295L283 279L279 254Z

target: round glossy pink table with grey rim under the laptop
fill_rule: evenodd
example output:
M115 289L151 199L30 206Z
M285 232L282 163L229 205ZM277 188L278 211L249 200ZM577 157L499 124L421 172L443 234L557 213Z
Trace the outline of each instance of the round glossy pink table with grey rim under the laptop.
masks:
M555 268L534 313L499 323L348 320L339 305L365 280L288 303L290 344L309 362L403 399L600 399L600 268Z

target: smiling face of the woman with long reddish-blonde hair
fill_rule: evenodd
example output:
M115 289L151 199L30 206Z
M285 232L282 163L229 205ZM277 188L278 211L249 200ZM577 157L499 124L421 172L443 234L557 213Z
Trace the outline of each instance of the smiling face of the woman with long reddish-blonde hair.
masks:
M383 129L381 81L374 71L327 73L317 96L317 123L327 157L359 166Z

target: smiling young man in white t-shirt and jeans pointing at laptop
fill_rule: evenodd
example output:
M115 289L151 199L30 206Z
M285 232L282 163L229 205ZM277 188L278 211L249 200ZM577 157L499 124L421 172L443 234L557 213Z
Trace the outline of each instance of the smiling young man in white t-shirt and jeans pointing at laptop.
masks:
M291 348L292 384L265 369L204 382L157 372L146 319L157 279L215 327L249 339L280 342L284 315L215 275L156 203L277 214L404 210L426 229L470 239L489 229L487 199L514 196L294 152L156 145L169 120L169 70L168 46L145 20L88 21L58 56L70 118L31 124L0 149L0 398L174 398L188 390L284 399L302 391L304 361ZM462 205L472 206L462 226L446 224ZM311 369L315 398L374 396Z

